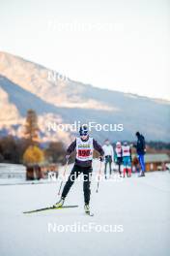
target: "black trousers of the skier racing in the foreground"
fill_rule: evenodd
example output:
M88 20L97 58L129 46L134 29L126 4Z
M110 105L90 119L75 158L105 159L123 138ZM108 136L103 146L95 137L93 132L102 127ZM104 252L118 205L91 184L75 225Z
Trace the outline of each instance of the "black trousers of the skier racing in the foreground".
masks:
M84 190L84 202L85 204L89 204L90 202L90 183L91 183L91 176L92 176L92 167L81 167L74 165L71 171L71 175L69 176L66 185L64 186L62 197L66 198L68 195L71 185L73 184L74 180L77 178L78 175L83 173L84 182L83 182L83 190Z

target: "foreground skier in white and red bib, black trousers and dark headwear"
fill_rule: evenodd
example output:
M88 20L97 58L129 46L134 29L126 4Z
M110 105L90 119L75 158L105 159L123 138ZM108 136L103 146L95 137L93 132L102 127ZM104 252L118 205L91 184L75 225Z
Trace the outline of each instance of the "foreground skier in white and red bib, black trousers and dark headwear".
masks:
M88 127L86 125L80 127L79 134L80 137L77 137L68 147L66 158L69 159L71 152L76 150L75 163L71 170L71 175L69 176L69 179L64 186L61 199L54 205L54 207L61 208L64 205L65 198L71 189L71 185L73 184L76 177L82 173L84 176L84 209L86 213L90 213L90 179L92 175L93 150L96 149L99 152L100 161L103 160L104 152L98 142L89 136Z

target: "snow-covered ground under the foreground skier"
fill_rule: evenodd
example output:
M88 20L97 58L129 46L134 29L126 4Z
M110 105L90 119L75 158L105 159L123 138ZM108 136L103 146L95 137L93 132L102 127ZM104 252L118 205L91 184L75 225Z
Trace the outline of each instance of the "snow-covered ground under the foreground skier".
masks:
M94 217L83 212L79 181L75 182L66 202L67 205L77 204L79 208L29 215L22 211L50 206L58 200L59 183L1 185L1 255L170 255L169 183L168 172L149 173L141 178L133 175L119 182L102 181L96 193L97 182L94 181L91 200ZM62 233L49 229L61 224L63 227L100 225L101 228L112 225L113 231L123 232L93 229Z

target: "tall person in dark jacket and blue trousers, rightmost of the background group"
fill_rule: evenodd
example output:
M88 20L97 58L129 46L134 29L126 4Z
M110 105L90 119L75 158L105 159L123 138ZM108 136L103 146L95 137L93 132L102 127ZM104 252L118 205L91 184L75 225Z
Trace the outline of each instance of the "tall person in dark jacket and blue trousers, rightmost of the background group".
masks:
M136 137L137 137L137 144L134 144L134 146L136 147L139 163L141 166L140 176L145 176L145 162L144 162L144 155L146 153L145 138L139 132L136 132Z

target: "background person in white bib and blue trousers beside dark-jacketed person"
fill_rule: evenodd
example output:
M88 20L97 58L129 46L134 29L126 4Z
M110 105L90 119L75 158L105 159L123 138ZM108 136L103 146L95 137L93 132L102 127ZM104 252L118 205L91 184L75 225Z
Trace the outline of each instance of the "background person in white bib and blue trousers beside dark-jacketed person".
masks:
M124 143L123 149L123 163L124 163L124 177L131 176L131 149L128 143Z

